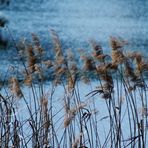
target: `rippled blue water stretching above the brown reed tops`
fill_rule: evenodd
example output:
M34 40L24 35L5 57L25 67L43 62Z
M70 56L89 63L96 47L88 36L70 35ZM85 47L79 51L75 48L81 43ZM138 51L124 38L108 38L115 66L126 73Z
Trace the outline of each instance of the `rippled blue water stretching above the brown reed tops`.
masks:
M94 38L109 51L109 37L120 36L129 41L129 49L147 53L147 0L11 0L0 11L8 18L16 41L31 39L34 32L48 47L51 43L48 30L52 28L65 48L90 49L88 41ZM11 40L7 29L3 32ZM13 51L0 52L2 62L9 63L12 57L6 56Z

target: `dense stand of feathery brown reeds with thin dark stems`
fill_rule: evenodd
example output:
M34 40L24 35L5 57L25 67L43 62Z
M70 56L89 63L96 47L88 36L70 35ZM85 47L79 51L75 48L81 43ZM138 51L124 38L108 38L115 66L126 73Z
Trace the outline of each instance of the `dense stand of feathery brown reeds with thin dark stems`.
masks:
M105 54L91 40L93 52L79 49L82 64L78 66L73 51L63 52L56 32L50 33L54 57L43 49L36 34L31 43L14 42L19 66L6 75L10 82L7 86L4 80L0 93L0 146L146 147L148 63L142 54L126 51L127 42L114 37L110 38L111 55ZM85 99L81 80L91 88ZM94 88L92 81L98 86ZM61 92L57 92L59 85ZM60 96L58 100L55 94ZM103 123L108 120L104 133L99 129L98 98L106 106L107 115L100 119ZM23 119L18 102L25 107Z

